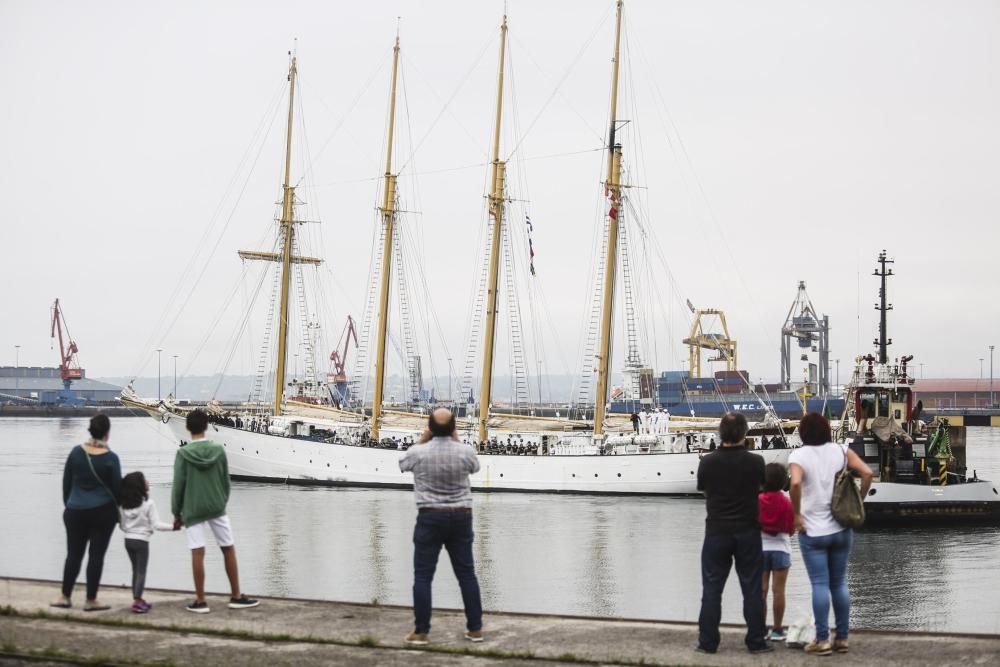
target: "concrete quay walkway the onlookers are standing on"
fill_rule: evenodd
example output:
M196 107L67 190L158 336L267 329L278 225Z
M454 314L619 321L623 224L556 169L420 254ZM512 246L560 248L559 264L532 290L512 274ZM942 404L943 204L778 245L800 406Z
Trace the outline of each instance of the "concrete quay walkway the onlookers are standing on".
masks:
M77 605L82 602L78 587ZM804 665L822 662L777 645L751 656L742 630L722 630L716 655L695 652L696 628L661 623L522 614L485 618L487 641L462 639L461 612L434 613L427 649L407 647L407 608L262 598L260 607L230 611L224 596L209 596L212 613L184 610L190 594L150 590L152 613L129 611L123 588L104 587L111 611L53 609L54 582L0 579L0 664L31 658L161 665ZM20 656L20 657L19 657ZM95 658L97 659L95 661ZM1000 637L857 631L837 665L996 665ZM38 664L34 662L33 664Z

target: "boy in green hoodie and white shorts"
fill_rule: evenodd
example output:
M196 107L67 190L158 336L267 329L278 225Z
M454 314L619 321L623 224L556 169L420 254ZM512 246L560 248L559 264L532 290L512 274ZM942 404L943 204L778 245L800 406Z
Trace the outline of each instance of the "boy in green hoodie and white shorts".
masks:
M202 410L192 410L187 416L187 430L191 441L177 450L174 457L174 486L171 506L174 527L184 526L188 547L191 549L191 568L194 571L195 601L187 610L196 614L211 611L205 601L205 543L208 531L222 549L226 563L226 576L232 597L230 609L248 609L260 604L240 592L239 566L233 531L226 516L229 501L229 463L222 445L205 438L208 415Z

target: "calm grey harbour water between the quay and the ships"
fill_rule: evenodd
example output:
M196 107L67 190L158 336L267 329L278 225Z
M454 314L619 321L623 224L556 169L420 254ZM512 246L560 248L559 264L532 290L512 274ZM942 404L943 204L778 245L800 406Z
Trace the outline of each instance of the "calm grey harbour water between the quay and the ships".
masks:
M65 557L61 475L85 419L0 419L0 574L57 579ZM117 419L111 446L142 470L169 515L175 443L151 419ZM969 430L969 462L1000 480L1000 429ZM696 620L704 503L699 499L477 494L476 560L488 610ZM410 492L234 484L229 506L243 588L408 604L415 509ZM788 621L808 614L808 582L793 539ZM1000 528L861 533L850 568L853 625L1000 633ZM734 575L735 577L735 575ZM127 584L119 532L104 581ZM208 587L225 590L217 551ZM179 533L157 533L151 586L188 588ZM54 589L53 589L54 590ZM458 607L444 557L434 602ZM741 621L731 578L724 620Z

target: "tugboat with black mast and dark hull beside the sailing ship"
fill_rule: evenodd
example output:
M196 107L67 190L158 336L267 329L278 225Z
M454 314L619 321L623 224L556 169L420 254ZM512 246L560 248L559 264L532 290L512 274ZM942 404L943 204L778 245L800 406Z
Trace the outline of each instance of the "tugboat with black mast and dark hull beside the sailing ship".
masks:
M883 250L874 275L881 280L877 354L858 357L847 388L837 439L872 468L875 482L865 498L869 523L947 521L1000 522L997 484L970 477L965 458L965 427L936 417L921 420L914 405L908 365L913 355L890 361L886 316L892 305L886 281L893 260Z

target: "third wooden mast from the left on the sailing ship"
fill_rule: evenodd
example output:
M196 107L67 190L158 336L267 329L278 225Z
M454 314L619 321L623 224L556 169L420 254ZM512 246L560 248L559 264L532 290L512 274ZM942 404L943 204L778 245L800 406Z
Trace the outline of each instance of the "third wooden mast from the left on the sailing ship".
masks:
M493 162L490 170L490 267L486 283L486 329L483 334L483 380L479 389L479 441L488 437L487 422L493 392L493 353L496 343L497 301L499 296L500 242L503 238L503 190L507 163L500 159L500 123L503 115L503 70L507 46L507 16L500 25L500 68L497 73L497 111L493 126Z

